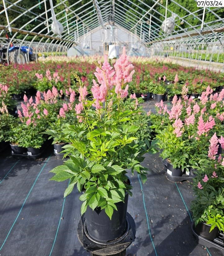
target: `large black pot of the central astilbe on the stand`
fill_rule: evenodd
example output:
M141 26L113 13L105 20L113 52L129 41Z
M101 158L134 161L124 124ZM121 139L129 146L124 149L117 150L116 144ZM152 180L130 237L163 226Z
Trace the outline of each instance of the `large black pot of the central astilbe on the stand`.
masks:
M104 209L100 210L100 207L97 207L93 211L89 206L87 207L85 212L86 229L89 236L94 240L106 243L121 237L125 233L128 193L125 194L124 203L119 202L115 205L117 211L114 210L111 220Z

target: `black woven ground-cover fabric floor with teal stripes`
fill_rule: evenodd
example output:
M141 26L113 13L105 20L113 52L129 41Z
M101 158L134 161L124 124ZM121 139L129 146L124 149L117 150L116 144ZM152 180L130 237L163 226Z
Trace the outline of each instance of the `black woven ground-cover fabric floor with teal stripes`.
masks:
M16 159L10 149L0 157L0 255L89 255L77 238L80 194L74 190L63 199L68 182L49 181L49 171L62 163L49 147L43 158ZM135 219L136 239L127 256L221 256L217 249L198 244L191 232L190 182L166 179L162 160L146 154L149 167L143 185L132 176L133 196L128 212Z

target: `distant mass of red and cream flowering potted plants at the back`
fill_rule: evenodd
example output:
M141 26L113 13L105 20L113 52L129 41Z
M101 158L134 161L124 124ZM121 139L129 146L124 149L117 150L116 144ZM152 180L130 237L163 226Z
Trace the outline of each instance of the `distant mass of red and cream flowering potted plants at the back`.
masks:
M93 57L77 57L68 62L55 58L54 61L50 59L45 62L5 66L0 70L1 83L8 86L9 93L15 98L22 98L21 94L29 94L32 88L41 92L52 89L53 86L63 91L69 87L78 89L79 85L72 75L72 72L75 72L90 92L94 79L93 60ZM132 94L164 94L166 91L170 97L181 94L181 88L186 83L189 86L189 94L201 94L208 85L212 88L224 85L221 73L185 68L149 58L133 58L133 62L135 74L129 83L129 91Z

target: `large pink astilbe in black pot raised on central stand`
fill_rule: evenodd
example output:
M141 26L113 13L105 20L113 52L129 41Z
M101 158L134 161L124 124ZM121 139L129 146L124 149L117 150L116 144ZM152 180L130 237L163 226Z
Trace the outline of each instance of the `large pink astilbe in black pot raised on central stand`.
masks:
M135 72L125 48L114 69L106 55L103 65L95 64L98 83L93 80L93 100L85 100L80 90L84 114L78 115L79 125L62 130L70 142L64 146L69 159L51 170L55 173L51 180L70 179L64 197L77 186L82 192L81 214L85 213L88 234L106 242L120 237L126 229L128 195L132 189L126 169L137 171L145 182L147 169L140 163L144 153L156 149L148 141L136 142L133 134L139 127L128 123L138 109L135 110L135 99L124 100L128 95L127 83ZM82 88L81 79L74 76Z

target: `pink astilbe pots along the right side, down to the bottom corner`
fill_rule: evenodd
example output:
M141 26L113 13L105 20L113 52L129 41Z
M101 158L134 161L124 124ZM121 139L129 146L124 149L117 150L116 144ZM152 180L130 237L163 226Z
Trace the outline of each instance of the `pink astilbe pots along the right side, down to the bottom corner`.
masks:
M182 97L175 95L172 104L169 110L162 100L156 103L151 128L157 131L167 176L194 177L194 229L213 241L224 232L224 89L214 93L208 86L200 99L193 99L184 85Z

